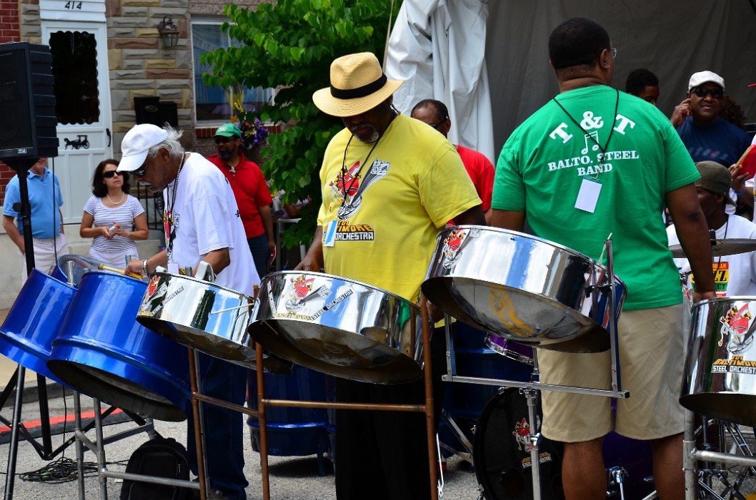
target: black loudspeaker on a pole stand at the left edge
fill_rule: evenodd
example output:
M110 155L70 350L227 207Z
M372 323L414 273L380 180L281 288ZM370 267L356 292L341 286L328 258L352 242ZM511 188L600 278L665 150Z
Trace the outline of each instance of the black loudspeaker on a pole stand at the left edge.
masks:
M57 156L50 48L0 44L0 68L0 160Z

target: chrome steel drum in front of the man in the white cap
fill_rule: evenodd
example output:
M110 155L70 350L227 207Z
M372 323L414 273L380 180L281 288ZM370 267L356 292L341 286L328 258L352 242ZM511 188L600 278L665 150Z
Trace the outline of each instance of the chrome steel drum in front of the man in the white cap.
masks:
M222 360L256 368L256 349L250 343L252 297L184 275L157 272L137 313L137 321L160 335ZM291 365L266 356L263 369L290 374Z

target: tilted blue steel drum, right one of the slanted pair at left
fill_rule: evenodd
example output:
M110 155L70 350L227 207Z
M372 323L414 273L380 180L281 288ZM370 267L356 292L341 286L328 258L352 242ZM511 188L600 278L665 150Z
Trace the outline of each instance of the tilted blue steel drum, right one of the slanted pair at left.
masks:
M107 271L83 275L48 368L105 403L179 422L191 410L187 349L137 323L146 289Z

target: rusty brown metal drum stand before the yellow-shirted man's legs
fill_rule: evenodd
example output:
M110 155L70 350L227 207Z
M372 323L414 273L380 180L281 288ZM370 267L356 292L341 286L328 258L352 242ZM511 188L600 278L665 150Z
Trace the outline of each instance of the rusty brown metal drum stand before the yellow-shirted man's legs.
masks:
M256 417L260 426L260 465L262 468L262 498L270 500L270 484L268 474L268 434L265 429L265 407L266 406L290 406L295 408L328 408L334 410L393 410L404 412L422 412L426 415L426 434L428 444L428 464L430 470L430 491L431 498L438 498L438 470L436 465L436 443L435 443L435 426L433 425L433 390L431 375L431 354L430 354L430 327L428 324L428 310L426 308L426 298L421 295L420 298L420 317L422 323L423 335L423 377L425 380L424 404L389 404L389 403L329 403L326 401L299 401L299 400L272 400L265 398L265 384L263 373L263 353L262 345L256 343L256 369L257 369L257 407L258 410L252 410L245 406L240 406L228 401L218 400L209 397L198 390L198 381L200 380L199 363L197 363L197 354L194 349L189 349L189 373L192 391L192 412L194 414L194 435L197 442L197 470L200 480L200 499L206 500L207 495L207 471L204 461L204 422L202 420L201 403L211 403L228 410L234 410L249 416ZM417 324L413 312L411 324ZM412 331L413 339L417 332ZM412 342L414 345L414 342Z

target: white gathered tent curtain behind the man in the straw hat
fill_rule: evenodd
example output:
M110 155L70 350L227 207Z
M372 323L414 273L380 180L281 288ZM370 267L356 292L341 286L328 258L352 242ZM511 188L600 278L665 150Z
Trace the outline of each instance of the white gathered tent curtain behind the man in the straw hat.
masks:
M451 118L449 140L493 161L487 18L488 5L481 0L405 0L389 40L386 75L404 80L394 94L401 112L409 115L423 99L442 101Z

